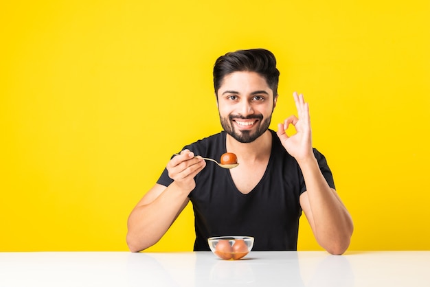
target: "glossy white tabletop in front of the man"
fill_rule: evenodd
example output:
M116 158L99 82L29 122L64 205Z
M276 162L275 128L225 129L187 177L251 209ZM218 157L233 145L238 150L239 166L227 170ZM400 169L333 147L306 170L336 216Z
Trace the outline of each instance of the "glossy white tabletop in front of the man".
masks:
M0 253L0 286L430 286L430 251Z

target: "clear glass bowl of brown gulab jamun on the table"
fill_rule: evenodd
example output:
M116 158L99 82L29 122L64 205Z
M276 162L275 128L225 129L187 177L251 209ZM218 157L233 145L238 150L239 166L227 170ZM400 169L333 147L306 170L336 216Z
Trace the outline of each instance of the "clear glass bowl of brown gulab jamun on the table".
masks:
M223 260L239 260L252 249L252 236L218 236L207 238L210 250Z

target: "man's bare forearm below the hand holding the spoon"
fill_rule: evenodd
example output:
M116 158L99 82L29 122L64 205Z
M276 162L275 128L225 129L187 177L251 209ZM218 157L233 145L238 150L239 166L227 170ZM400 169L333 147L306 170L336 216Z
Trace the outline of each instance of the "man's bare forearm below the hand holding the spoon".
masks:
M157 243L187 205L188 194L172 183L152 202L137 205L128 217L128 248L137 252Z

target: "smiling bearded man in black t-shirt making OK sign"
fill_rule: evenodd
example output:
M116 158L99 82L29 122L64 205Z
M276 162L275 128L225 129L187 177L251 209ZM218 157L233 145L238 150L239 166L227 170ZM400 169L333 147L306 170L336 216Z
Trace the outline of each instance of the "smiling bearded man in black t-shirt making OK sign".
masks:
M224 131L186 146L166 166L157 184L128 218L131 251L155 244L191 200L194 251L209 251L212 236L253 236L253 250L297 250L302 210L317 242L342 254L350 244L352 220L341 203L326 159L313 149L308 104L294 93L292 115L269 129L278 100L279 71L265 49L220 56L214 88ZM297 133L286 135L292 124ZM225 170L202 157L238 158Z

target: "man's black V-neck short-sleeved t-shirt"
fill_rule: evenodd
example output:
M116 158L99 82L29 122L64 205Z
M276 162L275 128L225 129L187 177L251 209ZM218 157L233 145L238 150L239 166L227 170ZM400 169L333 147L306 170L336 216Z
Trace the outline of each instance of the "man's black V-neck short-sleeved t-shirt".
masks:
M267 169L249 194L234 185L229 170L207 162L196 175L196 188L189 197L194 209L194 251L210 251L212 236L253 236L254 251L297 250L297 233L302 208L299 196L306 191L297 161L282 146L273 130ZM220 159L227 152L225 132L185 146L194 154ZM185 149L184 148L184 149ZM335 188L325 157L313 150L328 185ZM253 174L249 174L253 176ZM172 179L165 169L157 181L168 186Z

